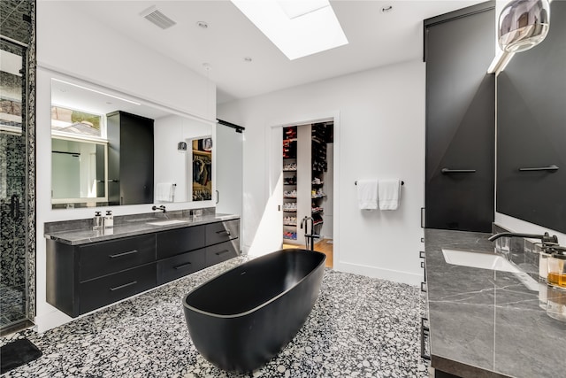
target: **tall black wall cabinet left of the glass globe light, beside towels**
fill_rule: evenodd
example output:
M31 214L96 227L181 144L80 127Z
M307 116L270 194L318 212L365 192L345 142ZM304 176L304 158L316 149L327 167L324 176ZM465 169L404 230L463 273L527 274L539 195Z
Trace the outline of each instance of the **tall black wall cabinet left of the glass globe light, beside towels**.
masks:
M494 2L424 20L427 228L491 231L494 35Z

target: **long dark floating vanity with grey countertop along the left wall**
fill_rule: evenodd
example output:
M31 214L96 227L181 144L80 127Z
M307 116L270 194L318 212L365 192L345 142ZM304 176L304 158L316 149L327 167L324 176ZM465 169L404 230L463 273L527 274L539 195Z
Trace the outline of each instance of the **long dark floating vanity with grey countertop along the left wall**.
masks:
M240 219L232 215L134 218L103 230L88 220L73 224L54 225L45 235L47 302L72 317L241 253Z

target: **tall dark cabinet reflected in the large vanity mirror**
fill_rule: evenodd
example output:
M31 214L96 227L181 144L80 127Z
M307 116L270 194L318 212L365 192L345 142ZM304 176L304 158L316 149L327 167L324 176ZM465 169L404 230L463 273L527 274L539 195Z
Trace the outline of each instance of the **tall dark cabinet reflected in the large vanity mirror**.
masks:
M106 122L109 204L152 204L153 120L111 112Z

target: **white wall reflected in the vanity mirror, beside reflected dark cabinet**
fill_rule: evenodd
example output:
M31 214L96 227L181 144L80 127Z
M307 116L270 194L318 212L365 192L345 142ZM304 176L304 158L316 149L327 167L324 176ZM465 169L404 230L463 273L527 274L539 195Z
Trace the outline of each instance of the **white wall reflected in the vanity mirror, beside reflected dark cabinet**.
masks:
M155 185L159 182L174 182L174 202L191 200L192 191L192 139L212 135L212 126L197 120L172 115L155 120L153 127ZM187 151L181 153L177 144L187 143ZM214 158L212 159L214 165ZM214 169L214 168L213 168ZM189 185L190 182L190 185Z

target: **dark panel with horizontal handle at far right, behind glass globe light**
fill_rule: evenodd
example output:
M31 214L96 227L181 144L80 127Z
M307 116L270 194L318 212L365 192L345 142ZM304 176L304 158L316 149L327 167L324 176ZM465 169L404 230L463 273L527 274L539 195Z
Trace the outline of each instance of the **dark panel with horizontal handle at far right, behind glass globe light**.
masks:
M497 212L566 233L566 2L497 76Z

